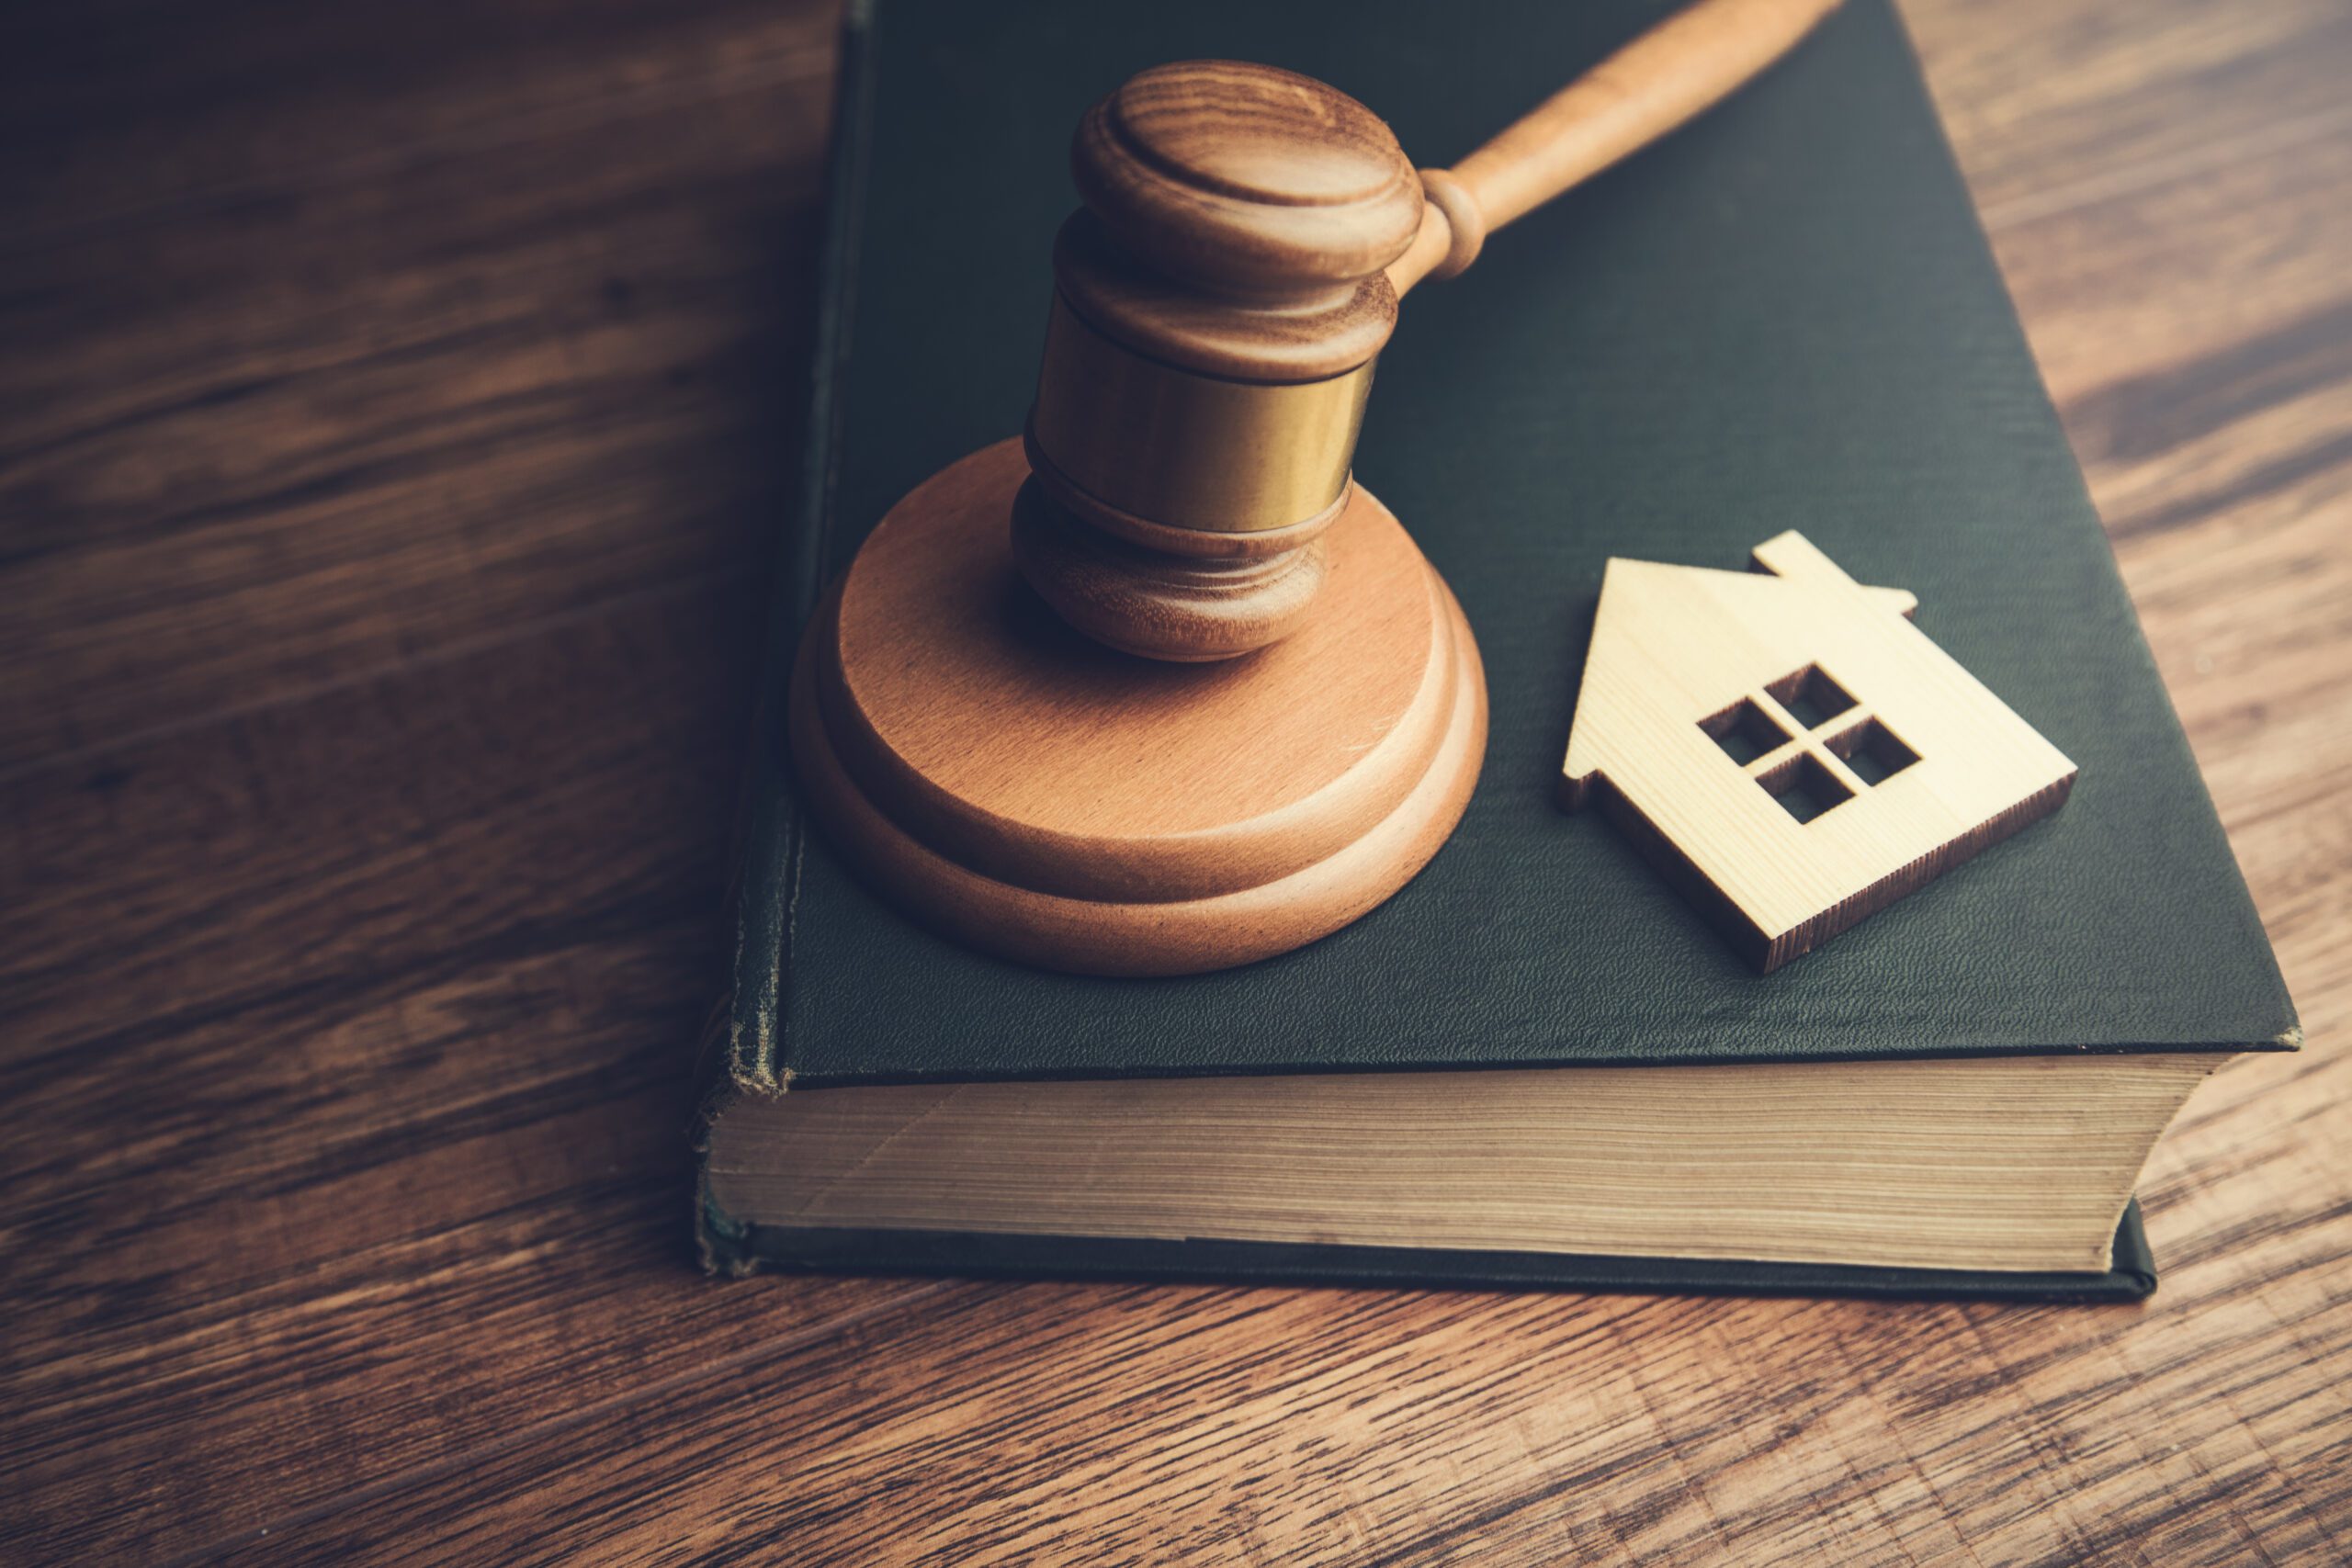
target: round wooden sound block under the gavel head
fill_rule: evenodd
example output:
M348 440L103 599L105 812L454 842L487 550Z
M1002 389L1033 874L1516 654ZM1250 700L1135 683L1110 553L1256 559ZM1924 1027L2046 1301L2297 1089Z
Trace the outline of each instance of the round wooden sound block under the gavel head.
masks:
M898 505L793 670L793 757L887 896L988 952L1105 976L1249 964L1345 926L1461 820L1486 677L1362 489L1308 625L1214 665L1105 649L1021 581L1021 442Z

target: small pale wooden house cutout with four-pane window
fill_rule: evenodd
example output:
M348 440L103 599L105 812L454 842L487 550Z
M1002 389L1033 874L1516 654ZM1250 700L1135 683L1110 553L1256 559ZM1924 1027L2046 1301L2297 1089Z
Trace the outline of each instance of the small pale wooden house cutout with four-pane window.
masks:
M1752 571L1611 559L1562 804L1771 971L2056 811L2074 764L1802 534Z

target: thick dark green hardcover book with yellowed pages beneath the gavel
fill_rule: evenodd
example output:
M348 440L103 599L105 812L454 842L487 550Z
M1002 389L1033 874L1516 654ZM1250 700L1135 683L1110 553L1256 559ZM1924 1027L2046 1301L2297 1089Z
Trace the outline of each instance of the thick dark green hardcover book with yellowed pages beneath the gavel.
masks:
M2140 1161L2197 1079L2300 1034L1882 0L1409 301L1357 477L1454 585L1491 710L1468 816L1392 900L1247 969L1044 973L873 896L795 797L800 623L891 501L1021 428L1096 96L1258 59L1437 165L1656 16L854 7L807 496L696 1131L708 1267L2154 1288ZM1609 557L1738 567L1783 529L1917 592L1917 625L2079 778L1757 976L1552 785Z

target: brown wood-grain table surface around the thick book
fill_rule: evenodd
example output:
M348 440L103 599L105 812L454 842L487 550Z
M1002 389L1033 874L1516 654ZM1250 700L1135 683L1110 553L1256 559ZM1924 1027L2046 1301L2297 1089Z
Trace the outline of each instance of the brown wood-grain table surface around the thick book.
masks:
M0 1556L2352 1556L2352 9L1905 9L2312 1039L2145 1309L706 1284L828 7L12 7Z

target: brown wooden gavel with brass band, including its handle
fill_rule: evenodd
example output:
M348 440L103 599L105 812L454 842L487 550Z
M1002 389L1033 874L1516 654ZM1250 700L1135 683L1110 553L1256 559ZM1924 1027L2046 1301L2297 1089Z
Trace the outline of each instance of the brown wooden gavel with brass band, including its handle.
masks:
M1127 654L1204 663L1291 635L1329 576L1397 301L1486 235L1691 120L1837 0L1700 0L1451 169L1272 66L1131 78L1077 127L1084 207L1011 517L1021 574Z

